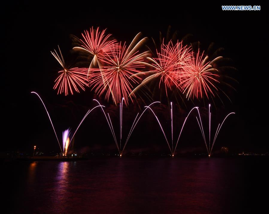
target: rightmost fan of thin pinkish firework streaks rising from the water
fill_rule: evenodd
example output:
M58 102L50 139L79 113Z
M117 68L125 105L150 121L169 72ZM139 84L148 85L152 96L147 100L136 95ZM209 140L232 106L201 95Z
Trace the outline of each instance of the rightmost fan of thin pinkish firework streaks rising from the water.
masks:
M204 130L203 130L203 124L202 124L202 120L201 120L201 116L200 116L199 110L198 110L199 120L198 120L198 118L196 117L197 122L198 122L198 125L199 125L200 130L201 130L201 133L202 133L202 136L203 136L203 140L204 140L205 145L206 145L206 150L207 150L207 153L208 153L208 157L210 157L210 155L211 155L213 146L214 146L214 144L215 144L215 141L216 141L216 139L217 139L217 137L218 137L218 133L219 133L219 131L220 131L220 129L221 129L221 127L222 127L224 121L226 120L226 118L227 118L229 115L231 115L231 114L235 114L234 112L229 113L229 114L224 118L223 122L222 122L221 124L220 124L220 123L218 124L218 128L217 128L217 130L216 130L216 133L215 133L215 136L214 136L214 139L213 139L213 142L212 142L212 146L211 146L211 148L210 148L210 138L211 138L211 112L210 112L210 106L211 106L211 105L209 104L209 112L208 112L208 117L209 117L209 142L208 142L208 146L207 146L207 143L206 143L206 137L205 137L205 133L204 133Z

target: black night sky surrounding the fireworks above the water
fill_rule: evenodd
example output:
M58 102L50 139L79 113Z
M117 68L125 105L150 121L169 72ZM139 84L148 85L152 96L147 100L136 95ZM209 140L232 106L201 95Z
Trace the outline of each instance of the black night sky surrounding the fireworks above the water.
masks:
M159 31L165 33L171 25L173 30L179 30L179 38L193 34L193 41L200 41L204 49L211 42L223 47L225 57L230 57L232 65L238 70L233 74L239 84L235 86L232 104L226 100L224 107L218 105L212 110L212 125L220 122L227 113L236 112L224 124L215 149L226 145L235 152L268 152L268 5L261 5L261 11L222 11L221 4L182 5L180 1L167 5L163 2L159 6L145 2L134 2L132 7L126 5L106 5L98 1L87 4L75 1L72 4L56 1L34 4L24 1L2 6L4 84L1 150L29 151L33 145L44 151L58 150L45 110L38 98L30 94L31 91L38 92L43 98L60 139L64 129L71 127L74 130L86 111L94 106L92 99L95 96L89 89L66 97L57 95L53 90L59 65L50 51L60 45L63 54L70 55L70 34L80 37L83 30L100 26L107 28L118 40L129 43L140 31L144 36L158 38ZM99 100L111 111L117 126L118 108L102 98ZM169 108L166 104L156 105L158 108L155 110L170 136ZM204 106L203 103L196 105ZM175 107L175 126L178 129L192 107L194 105L181 111ZM127 132L139 111L137 105L123 110L124 132ZM204 116L207 119L206 112ZM152 114L147 113L138 125L126 152L140 149L168 152ZM199 131L193 116L186 124L178 152L205 152ZM89 148L93 151L115 150L115 143L100 110L96 110L82 125L74 148L77 151L89 151Z

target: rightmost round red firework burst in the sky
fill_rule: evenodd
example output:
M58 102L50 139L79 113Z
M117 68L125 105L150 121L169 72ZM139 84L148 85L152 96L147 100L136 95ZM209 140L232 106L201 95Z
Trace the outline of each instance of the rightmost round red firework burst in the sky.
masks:
M215 96L214 91L218 90L215 83L219 82L216 80L219 75L214 74L218 70L212 68L210 63L222 57L217 57L212 62L206 63L208 57L203 57L203 53L200 55L199 52L200 50L198 49L196 56L192 53L192 59L189 60L188 66L185 66L183 78L180 83L180 86L184 90L183 93L186 92L187 98L199 98L199 95L203 98L203 93L209 98L209 93Z

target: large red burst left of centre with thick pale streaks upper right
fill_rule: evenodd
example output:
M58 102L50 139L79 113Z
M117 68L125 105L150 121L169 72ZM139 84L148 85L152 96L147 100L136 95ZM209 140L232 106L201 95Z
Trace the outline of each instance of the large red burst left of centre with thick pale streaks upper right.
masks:
M145 43L146 38L138 41L140 33L136 35L133 42L127 46L125 43L115 43L111 47L110 54L105 54L101 58L101 72L92 73L89 85L99 96L105 93L105 99L112 96L117 104L124 98L124 103L128 105L128 95L132 91L133 85L138 84L141 78L134 74L140 73L144 57L148 51L138 53L139 47ZM109 88L109 90L107 90Z

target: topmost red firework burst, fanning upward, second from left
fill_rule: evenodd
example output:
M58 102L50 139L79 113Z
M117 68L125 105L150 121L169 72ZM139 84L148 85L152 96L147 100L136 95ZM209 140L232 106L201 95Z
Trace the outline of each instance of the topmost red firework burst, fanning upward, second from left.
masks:
M116 40L109 40L112 34L105 34L106 30L99 31L99 27L96 29L90 28L89 31L84 31L82 33L82 37L84 40L80 40L82 42L81 47L75 47L74 49L82 49L88 51L92 56L92 62L90 64L90 68L96 66L97 63L99 65L99 59L104 55L110 54L114 43Z

